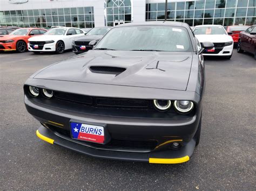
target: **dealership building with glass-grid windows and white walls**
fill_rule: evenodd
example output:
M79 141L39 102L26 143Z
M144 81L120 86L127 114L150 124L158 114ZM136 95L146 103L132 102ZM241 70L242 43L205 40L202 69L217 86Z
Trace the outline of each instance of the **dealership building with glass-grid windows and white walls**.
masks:
M97 27L164 20L165 0L1 0L0 26ZM256 0L169 0L167 20L256 24Z

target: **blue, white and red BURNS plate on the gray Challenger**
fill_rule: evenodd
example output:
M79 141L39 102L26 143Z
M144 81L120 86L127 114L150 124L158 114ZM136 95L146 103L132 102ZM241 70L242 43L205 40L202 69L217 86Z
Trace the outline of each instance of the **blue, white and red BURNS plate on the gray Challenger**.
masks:
M83 123L70 123L71 138L87 142L104 143L104 127Z

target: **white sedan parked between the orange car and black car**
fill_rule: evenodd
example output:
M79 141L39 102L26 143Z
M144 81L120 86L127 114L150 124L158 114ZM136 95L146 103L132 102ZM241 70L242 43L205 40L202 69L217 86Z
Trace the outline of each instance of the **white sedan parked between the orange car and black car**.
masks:
M56 52L62 54L72 48L72 40L84 36L84 31L73 27L58 27L51 29L40 37L29 39L28 49L33 53Z

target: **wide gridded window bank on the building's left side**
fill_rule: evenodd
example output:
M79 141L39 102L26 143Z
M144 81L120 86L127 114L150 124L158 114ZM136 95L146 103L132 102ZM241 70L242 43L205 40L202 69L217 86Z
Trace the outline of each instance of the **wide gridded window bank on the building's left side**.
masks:
M79 15L78 15L79 14ZM73 26L94 27L93 7L64 9L34 9L0 11L0 26L45 27Z

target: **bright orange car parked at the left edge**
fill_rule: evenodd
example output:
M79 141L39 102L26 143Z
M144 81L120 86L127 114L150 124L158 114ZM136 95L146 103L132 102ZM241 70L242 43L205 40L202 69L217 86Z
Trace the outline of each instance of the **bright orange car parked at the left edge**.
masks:
M0 51L25 52L28 49L28 39L36 35L42 35L46 31L39 28L16 29L9 35L0 37Z

